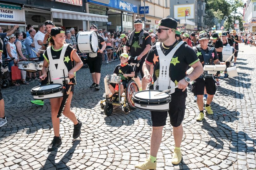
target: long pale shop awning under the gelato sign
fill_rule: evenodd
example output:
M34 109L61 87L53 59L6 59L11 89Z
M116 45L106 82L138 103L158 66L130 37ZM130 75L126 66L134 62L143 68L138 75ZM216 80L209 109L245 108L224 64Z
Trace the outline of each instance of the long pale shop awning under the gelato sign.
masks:
M51 8L53 18L108 22L108 16Z

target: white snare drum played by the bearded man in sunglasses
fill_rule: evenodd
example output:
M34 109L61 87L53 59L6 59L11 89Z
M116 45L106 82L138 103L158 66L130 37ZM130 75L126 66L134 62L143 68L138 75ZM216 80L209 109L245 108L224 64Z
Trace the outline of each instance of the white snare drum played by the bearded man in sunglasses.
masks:
M143 90L136 92L132 97L135 107L150 111L168 111L171 96L168 93L154 96L160 92L160 90Z

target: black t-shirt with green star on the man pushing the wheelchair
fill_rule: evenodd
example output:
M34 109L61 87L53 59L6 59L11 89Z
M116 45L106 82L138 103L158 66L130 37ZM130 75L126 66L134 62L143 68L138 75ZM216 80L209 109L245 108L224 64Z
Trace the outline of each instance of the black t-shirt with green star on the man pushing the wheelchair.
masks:
M125 43L125 46L130 47L130 55L132 57L136 57L136 56L140 55L146 48L146 45L149 44L151 46L151 36L149 36L147 31L144 31L144 36L142 39L143 42L142 42L142 44L140 44L139 35L142 31L144 31L144 30L141 30L140 32L135 32L134 37L132 39L131 46L129 45L128 40ZM147 54L145 56L143 56L143 58L146 58L146 56L147 56Z

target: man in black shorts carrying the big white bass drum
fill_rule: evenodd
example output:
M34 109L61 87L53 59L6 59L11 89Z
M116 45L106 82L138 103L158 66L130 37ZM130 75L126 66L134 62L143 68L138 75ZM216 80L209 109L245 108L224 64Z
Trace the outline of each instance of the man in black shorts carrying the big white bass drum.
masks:
M90 31L97 31L96 25L91 25L90 26ZM93 54L89 54L87 61L88 61L88 66L90 69L91 77L93 80L92 85L90 85L90 88L94 88L95 90L100 90L100 79L101 79L101 65L102 65L102 52L106 48L106 42L102 38L102 36L98 36L98 47L99 50L97 52L97 56L91 56Z

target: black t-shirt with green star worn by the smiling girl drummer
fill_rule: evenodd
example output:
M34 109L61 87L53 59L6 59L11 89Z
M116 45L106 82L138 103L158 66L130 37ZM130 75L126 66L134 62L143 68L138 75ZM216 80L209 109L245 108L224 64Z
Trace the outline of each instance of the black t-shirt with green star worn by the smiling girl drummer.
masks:
M62 47L63 48L63 47ZM60 59L61 56L61 51L62 48L59 50L54 50L53 46L51 46L51 54L52 54L52 58L55 59ZM72 45L70 44L67 49L66 52L64 54L64 60L63 62L65 63L65 66L67 67L67 70L70 71L71 69L73 69L74 66L74 60L72 59L72 53L75 52L75 49L72 47ZM43 54L44 59L49 63L49 58L48 58L48 54L47 51L44 52ZM61 61L60 61L61 62ZM50 63L49 63L50 64ZM70 81L72 81L72 83L76 83L75 79L72 78L70 79Z

